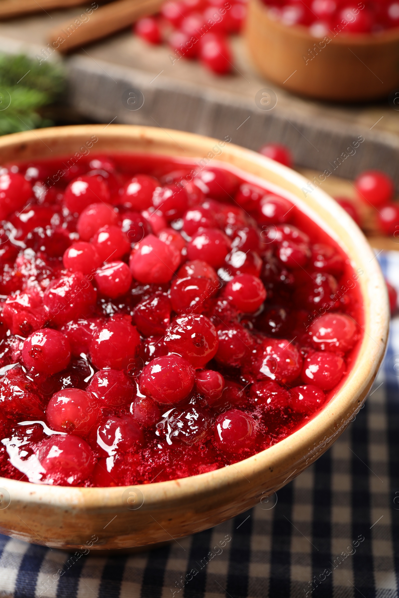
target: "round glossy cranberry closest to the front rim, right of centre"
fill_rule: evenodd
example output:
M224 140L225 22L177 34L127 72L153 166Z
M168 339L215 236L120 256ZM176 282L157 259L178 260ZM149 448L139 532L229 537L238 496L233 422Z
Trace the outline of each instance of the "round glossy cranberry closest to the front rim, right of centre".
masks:
M235 453L254 444L256 440L255 421L245 411L230 409L215 422L215 443L226 453Z

